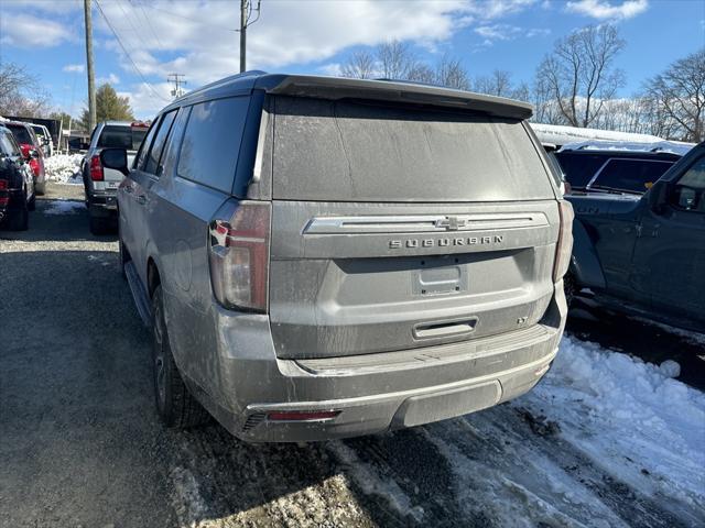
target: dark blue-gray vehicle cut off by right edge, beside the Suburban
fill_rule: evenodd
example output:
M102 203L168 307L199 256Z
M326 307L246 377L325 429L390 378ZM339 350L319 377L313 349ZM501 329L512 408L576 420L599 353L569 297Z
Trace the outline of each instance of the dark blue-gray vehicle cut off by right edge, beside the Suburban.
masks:
M705 143L643 195L581 193L566 296L589 288L604 305L705 328Z

